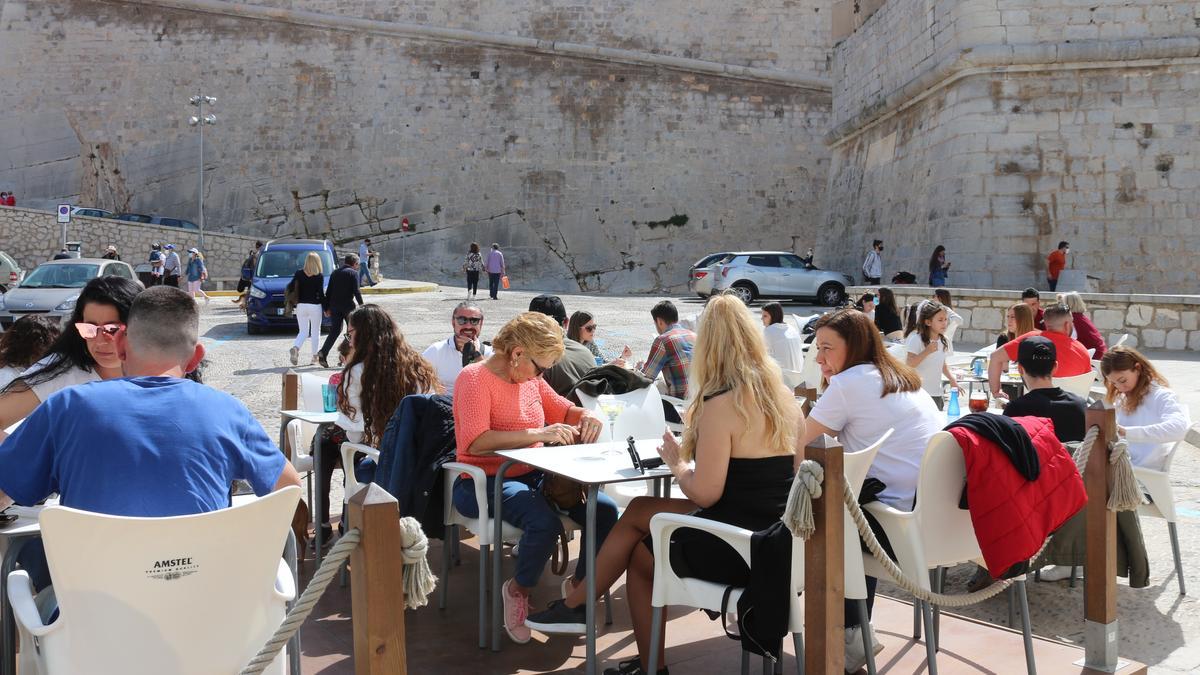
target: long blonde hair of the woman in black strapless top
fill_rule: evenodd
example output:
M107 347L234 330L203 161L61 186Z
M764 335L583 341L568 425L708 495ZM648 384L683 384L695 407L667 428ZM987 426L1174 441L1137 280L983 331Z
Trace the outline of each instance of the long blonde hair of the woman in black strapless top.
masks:
M767 353L762 327L746 312L736 295L720 294L704 307L696 345L691 353L688 394L691 400L684 412L680 456L696 455L697 420L704 412L706 396L730 392L738 418L750 426L750 410L762 414L767 446L775 450L796 450L796 426L799 411L793 394L784 386L779 365Z

